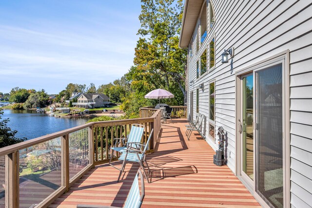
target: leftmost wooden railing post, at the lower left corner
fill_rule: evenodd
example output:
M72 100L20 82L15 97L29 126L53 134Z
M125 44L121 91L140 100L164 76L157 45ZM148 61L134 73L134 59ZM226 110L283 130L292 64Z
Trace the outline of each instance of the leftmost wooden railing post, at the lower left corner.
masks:
M5 206L18 208L20 205L19 151L5 155Z

